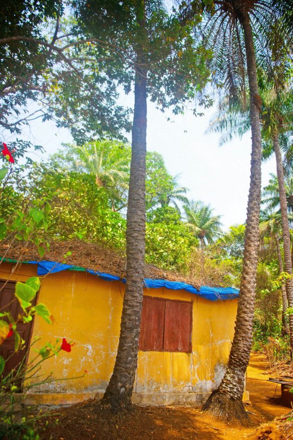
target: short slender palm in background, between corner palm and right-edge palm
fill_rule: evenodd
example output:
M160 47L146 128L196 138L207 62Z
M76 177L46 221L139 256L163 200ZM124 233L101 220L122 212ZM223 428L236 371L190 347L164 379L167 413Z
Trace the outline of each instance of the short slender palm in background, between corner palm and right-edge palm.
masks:
M283 261L282 261L282 254L280 249L280 242L279 242L279 231L281 226L281 216L277 212L272 212L271 214L267 214L266 212L263 212L263 219L260 222L259 225L259 232L260 237L268 237L269 239L273 240L276 245L277 250L277 256L278 256L278 265L279 265L279 273L283 272ZM287 294L285 285L281 284L281 290L282 290L282 328L283 328L283 334L289 335L289 325L286 319L286 312L288 308L288 300L287 300Z

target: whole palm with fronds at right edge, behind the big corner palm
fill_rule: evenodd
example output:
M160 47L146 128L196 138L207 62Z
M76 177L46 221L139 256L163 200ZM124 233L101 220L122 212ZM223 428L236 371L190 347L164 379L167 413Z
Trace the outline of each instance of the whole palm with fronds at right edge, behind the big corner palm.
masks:
M263 76L259 76L259 83L262 89L262 136L263 136L263 158L267 159L271 154L275 153L277 177L271 179L269 186L265 189L264 194L269 195L265 201L269 202L269 206L274 208L277 205L281 207L282 218L282 234L285 254L285 270L292 274L293 261L293 244L290 244L290 230L287 214L287 205L293 209L293 179L288 176L292 169L292 141L293 134L293 92L288 87L286 89L286 81L291 81L291 70L287 66L287 60L284 63L276 63L277 68L283 66L280 73L284 80L284 84L270 85L270 81L265 82ZM290 73L288 73L290 71ZM279 75L279 77L280 77ZM279 81L278 77L278 81ZM282 87L282 90L278 90ZM225 105L220 107L218 117L214 118L210 125L211 131L226 130L226 133L221 138L221 143L230 140L234 134L244 134L248 130L248 113L239 106L234 104L232 111L224 114ZM280 149L281 146L287 153L286 174L287 182L284 176L284 167ZM293 307L293 279L286 279L286 293L287 300L290 307ZM291 335L291 350L293 352L293 316L290 316L290 335Z

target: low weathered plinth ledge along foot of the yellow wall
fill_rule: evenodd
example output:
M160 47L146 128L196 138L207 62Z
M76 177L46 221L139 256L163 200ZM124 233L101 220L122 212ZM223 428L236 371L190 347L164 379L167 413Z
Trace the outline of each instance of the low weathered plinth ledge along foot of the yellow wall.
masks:
M210 393L133 393L133 404L141 406L184 405L200 406L205 403ZM91 398L102 398L103 393L55 393L55 394L26 394L24 405L63 406L82 402ZM249 392L244 391L243 400L249 400Z

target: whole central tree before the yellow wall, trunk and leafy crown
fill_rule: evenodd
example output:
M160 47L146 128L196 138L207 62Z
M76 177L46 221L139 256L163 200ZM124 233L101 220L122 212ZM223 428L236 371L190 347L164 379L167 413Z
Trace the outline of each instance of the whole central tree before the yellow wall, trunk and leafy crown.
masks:
M146 98L150 96L162 109L173 107L175 113L182 111L183 103L189 102L207 82L209 72L205 60L209 53L204 47L198 47L193 38L187 38L189 27L182 29L175 13L169 14L161 0L75 0L73 3L77 8L77 21L94 45L92 56L97 57L97 62L98 54L106 59L102 69L117 86L123 86L126 93L134 83L126 216L126 290L117 356L103 398L105 403L119 410L131 407L143 304ZM116 92L118 97L120 90Z

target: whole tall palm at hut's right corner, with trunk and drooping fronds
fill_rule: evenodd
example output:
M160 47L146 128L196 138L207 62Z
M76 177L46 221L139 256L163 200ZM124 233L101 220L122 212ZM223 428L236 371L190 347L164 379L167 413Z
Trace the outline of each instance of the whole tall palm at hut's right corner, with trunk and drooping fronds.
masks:
M205 37L214 52L214 81L229 91L230 101L246 101L246 86L250 93L251 121L251 182L247 208L245 245L240 294L226 373L204 405L204 410L222 419L246 423L248 415L242 403L245 371L250 358L252 322L255 301L256 268L259 247L259 212L261 199L261 98L258 91L255 48L272 52L273 32L281 37L292 31L292 23L284 25L284 3L273 0L215 0L207 4L189 1L182 15L187 19L204 7ZM289 6L289 1L288 5ZM185 3L186 4L186 3ZM280 26L283 26L280 32ZM278 28L279 27L279 28ZM290 27L290 29L289 29ZM270 57L263 57L265 61ZM245 63L246 62L246 63Z

